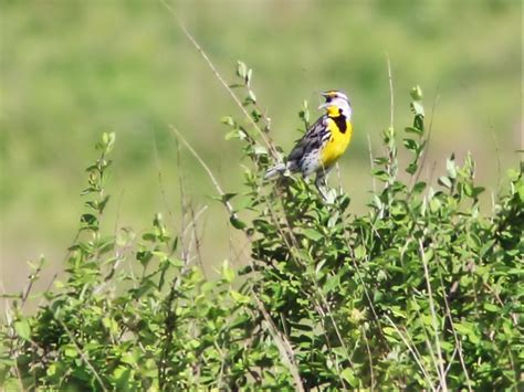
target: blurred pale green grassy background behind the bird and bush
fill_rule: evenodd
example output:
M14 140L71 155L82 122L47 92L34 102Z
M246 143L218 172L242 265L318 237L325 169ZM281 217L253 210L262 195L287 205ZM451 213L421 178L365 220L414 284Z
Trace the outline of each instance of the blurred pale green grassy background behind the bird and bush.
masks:
M178 231L181 177L195 209L209 204L200 220L206 262L230 257L234 231L195 159L182 151L178 169L168 124L234 192L242 179L239 145L223 139L219 118L240 114L177 18L228 81L237 60L253 67L273 138L286 150L298 136L303 99L316 107L315 91L349 94L354 144L340 170L354 212L364 209L371 187L368 136L378 152L389 124L386 53L397 129L410 119L410 87L420 84L425 92L432 137L423 176L433 162L438 172L452 151L459 159L472 151L479 180L496 190L499 172L518 160L518 0L166 1L177 15L156 0L1 1L0 215L8 292L22 287L27 259L43 253L52 264L48 276L59 269L83 210L83 170L103 131L117 134L108 230L133 226L139 234L156 211L169 218L170 210L169 224Z

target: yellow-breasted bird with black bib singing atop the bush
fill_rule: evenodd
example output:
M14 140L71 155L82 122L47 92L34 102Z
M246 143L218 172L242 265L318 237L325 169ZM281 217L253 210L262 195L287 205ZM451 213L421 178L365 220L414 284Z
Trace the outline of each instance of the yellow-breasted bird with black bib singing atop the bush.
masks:
M352 141L353 108L347 95L340 91L331 89L321 95L326 99L318 106L318 109L325 109L324 115L295 142L285 162L268 169L264 179L273 179L287 170L292 173L300 172L304 178L316 174L315 186L324 200L327 200L323 187L327 187L329 170Z

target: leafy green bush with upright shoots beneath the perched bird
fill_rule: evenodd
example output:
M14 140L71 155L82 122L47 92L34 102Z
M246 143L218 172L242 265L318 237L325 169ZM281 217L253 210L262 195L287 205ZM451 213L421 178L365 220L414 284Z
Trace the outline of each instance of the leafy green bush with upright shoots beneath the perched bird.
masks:
M222 123L244 151L245 189L217 188L251 244L248 265L224 262L220 278L206 279L159 214L138 241L103 232L115 141L105 134L65 280L27 315L41 261L1 328L4 388L518 389L522 168L490 213L480 211L471 157L451 156L437 189L419 180L427 130L416 87L407 176L391 126L373 160L381 186L353 215L340 189L327 204L302 178L263 182L282 150L252 71L239 63L238 76L228 88L245 95L248 123ZM307 126L306 104L300 116Z

